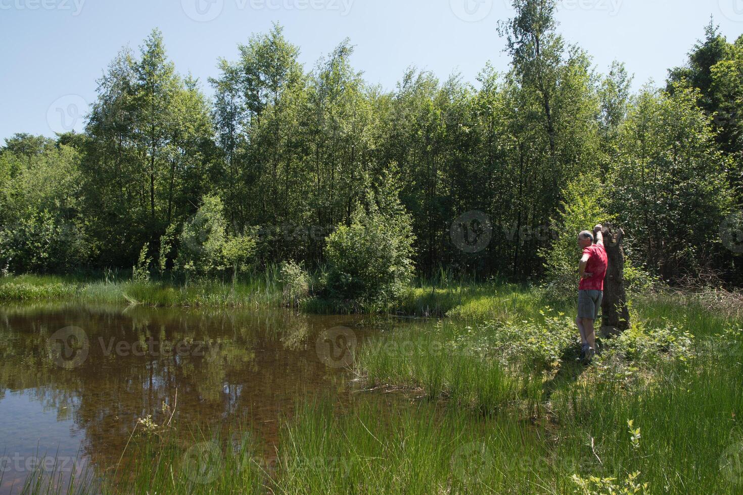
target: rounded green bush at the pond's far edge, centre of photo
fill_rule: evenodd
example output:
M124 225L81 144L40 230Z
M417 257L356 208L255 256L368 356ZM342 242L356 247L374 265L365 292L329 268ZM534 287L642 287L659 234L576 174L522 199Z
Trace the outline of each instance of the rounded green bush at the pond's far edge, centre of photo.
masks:
M358 209L351 225L338 226L325 246L331 298L367 306L398 301L412 278L413 240L407 214Z

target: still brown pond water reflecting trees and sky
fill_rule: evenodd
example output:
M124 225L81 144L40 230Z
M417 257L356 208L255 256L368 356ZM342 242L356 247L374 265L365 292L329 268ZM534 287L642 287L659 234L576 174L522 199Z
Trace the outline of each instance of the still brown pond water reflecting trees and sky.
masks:
M0 305L0 494L52 464L62 476L110 469L147 416L183 431L251 424L270 445L309 394L351 393L348 348L397 324L283 309Z

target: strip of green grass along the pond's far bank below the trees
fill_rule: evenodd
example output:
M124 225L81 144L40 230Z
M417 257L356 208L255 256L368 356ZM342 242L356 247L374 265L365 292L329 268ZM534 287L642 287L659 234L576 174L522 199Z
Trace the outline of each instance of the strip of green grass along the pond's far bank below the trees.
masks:
M277 267L231 281L137 282L126 278L19 275L0 278L0 302L76 299L94 303L147 306L282 306L285 283ZM514 283L473 283L435 279L418 281L399 304L363 306L326 301L308 295L297 301L311 313L381 312L416 317L447 317L467 321L527 318L547 304L542 292Z

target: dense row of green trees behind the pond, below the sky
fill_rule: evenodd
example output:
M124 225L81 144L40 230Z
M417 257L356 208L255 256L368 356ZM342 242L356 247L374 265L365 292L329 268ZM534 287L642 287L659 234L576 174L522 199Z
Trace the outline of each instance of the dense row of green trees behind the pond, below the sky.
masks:
M348 40L306 70L276 25L218 60L208 99L153 30L108 66L84 133L6 141L1 268L131 267L143 246L153 266L178 268L205 197L253 265L313 264L332 229L394 196L418 272L526 278L543 270L565 191L588 177L598 185L583 194L623 226L638 266L739 283L743 249L722 231L743 197L743 36L710 23L665 88L633 94L623 64L599 73L559 35L553 1L514 6L498 29L509 71L486 65L470 84L411 68L394 91L354 70ZM474 253L451 239L473 211L493 229Z

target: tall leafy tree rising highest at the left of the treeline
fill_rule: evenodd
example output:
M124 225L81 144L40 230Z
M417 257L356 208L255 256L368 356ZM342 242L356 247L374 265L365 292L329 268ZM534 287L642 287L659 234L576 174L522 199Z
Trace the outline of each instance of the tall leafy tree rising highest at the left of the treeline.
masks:
M125 48L99 80L83 163L99 263L131 266L180 223L212 182L212 122L197 82L175 72L153 30L139 56Z

